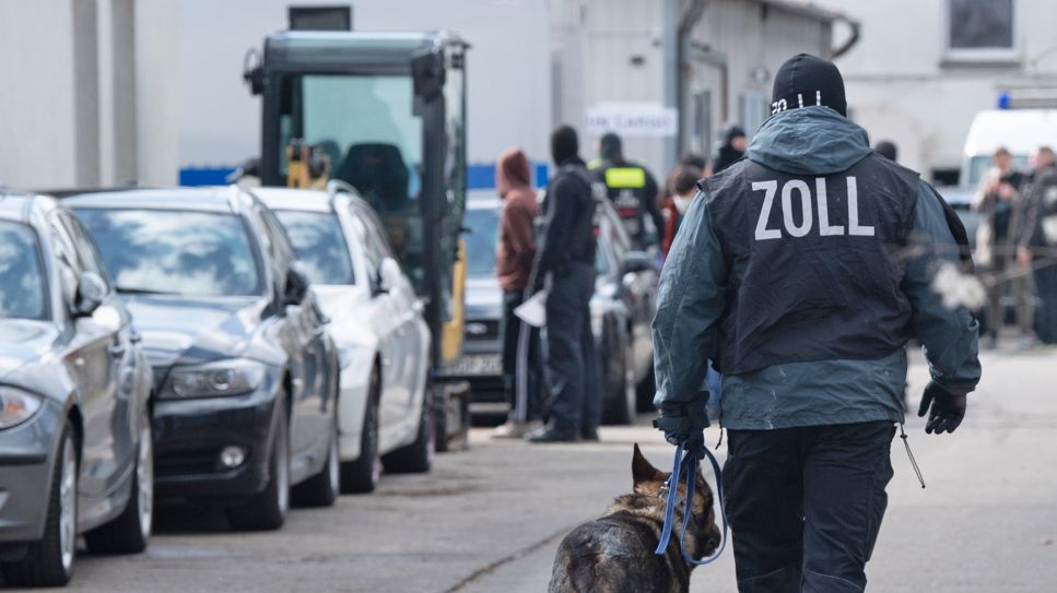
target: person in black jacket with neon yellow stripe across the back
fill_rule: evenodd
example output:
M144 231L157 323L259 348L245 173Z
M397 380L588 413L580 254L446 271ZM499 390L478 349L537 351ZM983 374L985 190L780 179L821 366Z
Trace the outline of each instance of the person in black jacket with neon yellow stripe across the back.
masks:
M663 233L665 217L660 214L657 200L660 188L646 167L624 158L620 137L614 133L602 135L598 143L599 161L592 163L595 180L606 186L613 209L624 222L627 234L638 249L656 242L646 229L646 216L654 224L657 236Z

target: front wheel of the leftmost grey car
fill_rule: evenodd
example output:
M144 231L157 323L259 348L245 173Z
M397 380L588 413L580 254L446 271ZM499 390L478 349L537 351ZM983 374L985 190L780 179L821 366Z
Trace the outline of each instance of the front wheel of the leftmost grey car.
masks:
M70 426L62 429L44 537L30 544L25 557L2 565L7 584L15 586L61 586L70 582L77 556L78 454Z

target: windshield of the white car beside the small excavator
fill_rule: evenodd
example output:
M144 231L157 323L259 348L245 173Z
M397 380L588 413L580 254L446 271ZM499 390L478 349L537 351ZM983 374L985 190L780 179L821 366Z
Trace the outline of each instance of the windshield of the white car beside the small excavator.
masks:
M338 216L331 212L277 210L275 216L286 228L297 259L313 284L355 284L349 246L341 233Z

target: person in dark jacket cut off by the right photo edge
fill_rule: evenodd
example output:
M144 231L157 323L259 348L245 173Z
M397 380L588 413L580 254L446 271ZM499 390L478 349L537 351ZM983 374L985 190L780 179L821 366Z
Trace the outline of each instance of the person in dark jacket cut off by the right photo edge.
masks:
M1042 301L1035 328L1045 344L1057 344L1057 161L1043 146L1024 190L1025 213L1017 238L1017 261L1031 265L1035 294Z

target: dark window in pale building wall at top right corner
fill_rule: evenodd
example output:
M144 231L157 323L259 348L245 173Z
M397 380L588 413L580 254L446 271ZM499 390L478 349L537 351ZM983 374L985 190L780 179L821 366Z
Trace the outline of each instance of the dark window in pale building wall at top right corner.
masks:
M1012 51L1013 14L1013 0L948 0L950 51Z

